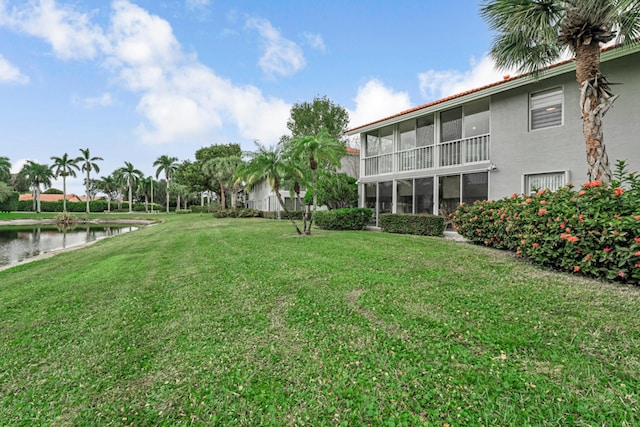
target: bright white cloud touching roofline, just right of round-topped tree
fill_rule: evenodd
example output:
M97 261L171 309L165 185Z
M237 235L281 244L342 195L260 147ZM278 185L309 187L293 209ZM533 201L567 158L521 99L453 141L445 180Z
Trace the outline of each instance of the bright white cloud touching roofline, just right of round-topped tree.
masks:
M355 111L349 111L349 127L354 128L411 108L406 92L394 92L379 80L369 80L358 89Z

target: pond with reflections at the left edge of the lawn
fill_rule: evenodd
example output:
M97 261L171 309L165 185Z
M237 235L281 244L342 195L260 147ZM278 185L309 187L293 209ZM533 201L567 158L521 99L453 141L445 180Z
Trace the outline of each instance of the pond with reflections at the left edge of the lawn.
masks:
M122 224L81 224L66 230L55 225L0 227L0 269L47 252L83 245L138 228Z

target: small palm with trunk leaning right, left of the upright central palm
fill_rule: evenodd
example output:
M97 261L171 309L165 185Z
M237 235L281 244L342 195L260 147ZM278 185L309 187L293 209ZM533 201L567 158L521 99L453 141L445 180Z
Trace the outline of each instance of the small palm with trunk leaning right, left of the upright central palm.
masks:
M265 148L264 145L256 141L258 150L255 153L250 153L250 160L248 163L241 165L236 171L236 177L243 179L246 182L248 188L253 187L261 180L266 180L269 186L276 193L278 203L284 210L285 214L291 220L291 223L296 229L298 234L302 234L298 225L291 217L289 210L287 209L282 194L280 194L280 184L282 178L290 173L290 165L287 163L284 156L284 149L281 144L272 148Z

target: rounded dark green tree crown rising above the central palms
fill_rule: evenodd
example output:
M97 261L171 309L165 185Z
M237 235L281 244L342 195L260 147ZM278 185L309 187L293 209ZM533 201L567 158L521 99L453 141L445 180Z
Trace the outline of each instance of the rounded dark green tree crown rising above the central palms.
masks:
M349 125L349 113L326 96L315 97L312 102L301 102L291 107L287 128L293 137L317 135L325 130L334 139L342 139Z

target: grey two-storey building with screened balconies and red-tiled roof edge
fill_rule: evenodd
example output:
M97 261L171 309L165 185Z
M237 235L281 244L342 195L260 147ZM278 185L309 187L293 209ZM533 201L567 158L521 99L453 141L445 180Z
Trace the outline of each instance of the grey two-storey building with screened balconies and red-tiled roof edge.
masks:
M640 46L602 53L620 94L604 120L612 167L640 170ZM448 214L460 203L587 181L575 63L440 99L350 129L359 135L360 206Z

